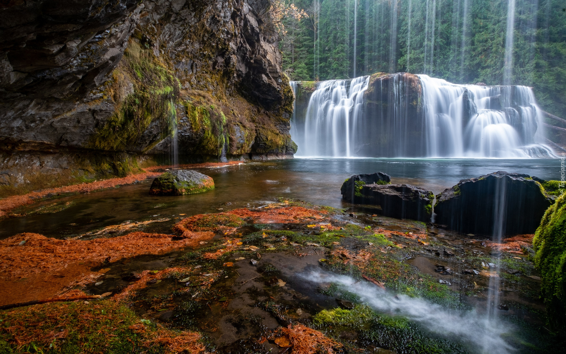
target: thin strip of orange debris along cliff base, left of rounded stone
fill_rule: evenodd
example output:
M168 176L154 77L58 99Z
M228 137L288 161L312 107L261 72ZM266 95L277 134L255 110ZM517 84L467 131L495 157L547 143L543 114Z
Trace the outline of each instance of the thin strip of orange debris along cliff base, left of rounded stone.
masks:
M95 190L132 184L135 181L145 180L145 178L160 176L160 174L161 173L159 172L144 172L121 178L110 178L109 180L84 183L80 185L48 188L23 195L12 195L11 197L0 199L0 217L9 215L9 212L15 208L35 203L37 199L48 197L49 195L59 195L64 193L89 193Z

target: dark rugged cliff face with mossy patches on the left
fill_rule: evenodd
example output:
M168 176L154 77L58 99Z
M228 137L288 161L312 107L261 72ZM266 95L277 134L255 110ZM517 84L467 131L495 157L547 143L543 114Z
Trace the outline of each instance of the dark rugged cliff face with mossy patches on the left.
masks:
M5 4L2 194L119 176L173 150L181 161L295 152L268 0Z

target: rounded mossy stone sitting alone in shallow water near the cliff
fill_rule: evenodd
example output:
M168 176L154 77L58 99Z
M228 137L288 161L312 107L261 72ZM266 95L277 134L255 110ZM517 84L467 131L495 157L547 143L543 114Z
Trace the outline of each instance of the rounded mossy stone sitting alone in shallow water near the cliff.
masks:
M149 188L152 195L183 195L202 193L214 189L214 181L206 174L194 170L165 172L153 180Z

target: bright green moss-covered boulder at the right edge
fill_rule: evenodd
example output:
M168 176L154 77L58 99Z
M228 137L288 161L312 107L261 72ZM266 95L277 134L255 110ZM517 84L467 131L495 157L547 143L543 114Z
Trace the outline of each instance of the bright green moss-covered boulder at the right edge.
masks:
M534 264L541 272L541 295L548 322L566 333L566 194L560 195L542 217L533 238Z

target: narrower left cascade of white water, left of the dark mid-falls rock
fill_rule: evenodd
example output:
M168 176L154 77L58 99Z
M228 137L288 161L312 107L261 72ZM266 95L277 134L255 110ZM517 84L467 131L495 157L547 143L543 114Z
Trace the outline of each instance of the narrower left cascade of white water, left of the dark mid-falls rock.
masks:
M363 91L367 89L369 79L369 76L361 76L319 84L308 103L303 131L297 131L297 128L294 130L297 133L291 131L291 137L299 147L297 155L353 156L353 127L358 124Z

